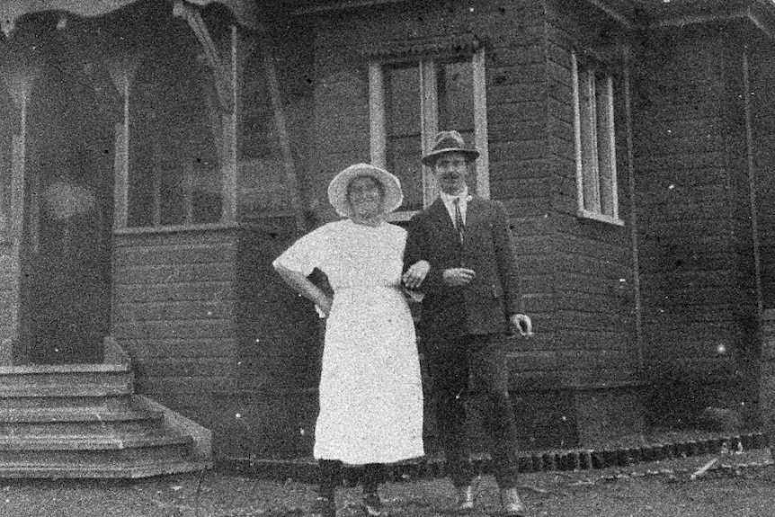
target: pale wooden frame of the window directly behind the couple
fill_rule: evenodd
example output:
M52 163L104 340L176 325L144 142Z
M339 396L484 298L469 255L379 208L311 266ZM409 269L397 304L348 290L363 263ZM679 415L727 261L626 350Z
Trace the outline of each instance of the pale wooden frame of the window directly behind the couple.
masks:
M487 104L485 49L473 49L465 54L441 53L397 58L370 58L369 60L369 117L371 163L387 165L387 113L385 105L384 68L396 63L416 63L420 70L420 134L422 154L433 146L438 127L438 95L436 91L436 64L449 58L470 59L474 103L474 146L479 157L474 162L477 195L490 197L489 153L487 148ZM452 128L450 128L452 129ZM420 161L421 156L417 156ZM439 186L432 169L423 165L423 208L427 208L438 196ZM391 221L407 221L417 210L403 210L390 214Z

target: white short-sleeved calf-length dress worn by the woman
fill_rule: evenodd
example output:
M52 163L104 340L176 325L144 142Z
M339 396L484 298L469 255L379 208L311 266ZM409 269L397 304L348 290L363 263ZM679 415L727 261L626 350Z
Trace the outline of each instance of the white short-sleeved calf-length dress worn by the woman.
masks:
M423 387L414 323L400 278L406 231L343 219L301 237L275 261L325 272L334 303L325 324L316 459L391 463L423 456Z

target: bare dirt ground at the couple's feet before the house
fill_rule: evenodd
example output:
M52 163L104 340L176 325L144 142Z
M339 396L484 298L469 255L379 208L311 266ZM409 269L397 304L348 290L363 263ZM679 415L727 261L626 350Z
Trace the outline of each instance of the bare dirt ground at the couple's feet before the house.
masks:
M452 513L454 493L445 479L388 483L380 493L396 517ZM495 515L492 477L482 479L478 494L473 517ZM359 495L359 488L339 490L339 517L360 517ZM775 466L768 450L753 450L629 468L530 473L521 477L521 495L530 517L772 517ZM314 496L306 484L218 471L125 481L0 480L0 516L303 517Z

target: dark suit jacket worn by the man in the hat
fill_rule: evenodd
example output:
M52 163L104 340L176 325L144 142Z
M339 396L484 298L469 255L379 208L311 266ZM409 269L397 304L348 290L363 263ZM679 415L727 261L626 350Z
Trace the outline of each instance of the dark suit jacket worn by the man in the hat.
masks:
M509 316L521 312L521 293L503 204L477 197L468 201L462 245L441 197L416 214L408 229L405 269L418 260L431 263L420 287L425 295L418 324L421 338L508 332ZM441 272L454 267L472 269L477 276L467 286L448 287Z

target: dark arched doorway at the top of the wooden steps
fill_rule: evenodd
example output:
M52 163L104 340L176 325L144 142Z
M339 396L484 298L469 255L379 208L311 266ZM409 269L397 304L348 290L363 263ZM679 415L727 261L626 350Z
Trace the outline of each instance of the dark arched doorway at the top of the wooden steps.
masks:
M21 314L33 363L101 362L110 331L112 123L80 65L47 67L31 95Z

